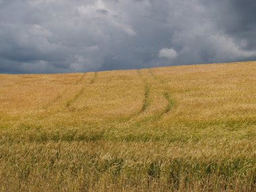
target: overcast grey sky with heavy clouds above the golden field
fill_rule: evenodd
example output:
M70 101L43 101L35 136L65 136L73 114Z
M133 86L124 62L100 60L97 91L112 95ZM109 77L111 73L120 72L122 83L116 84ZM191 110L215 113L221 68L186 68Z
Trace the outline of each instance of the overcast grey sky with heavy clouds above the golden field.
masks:
M255 0L0 0L0 73L256 60Z

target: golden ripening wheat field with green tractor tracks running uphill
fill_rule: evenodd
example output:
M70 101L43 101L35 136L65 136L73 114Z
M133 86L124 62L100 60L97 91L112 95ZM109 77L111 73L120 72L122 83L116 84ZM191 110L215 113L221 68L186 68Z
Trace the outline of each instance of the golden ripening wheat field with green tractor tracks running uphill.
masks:
M256 191L255 74L0 74L0 191Z

